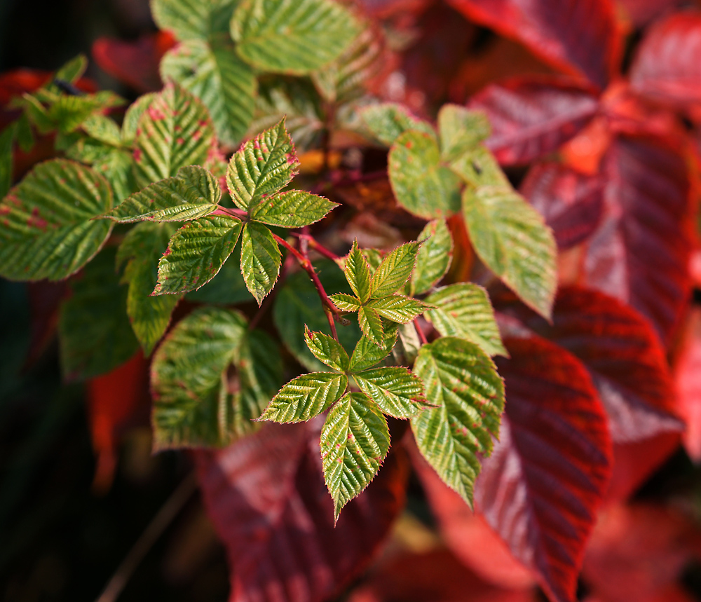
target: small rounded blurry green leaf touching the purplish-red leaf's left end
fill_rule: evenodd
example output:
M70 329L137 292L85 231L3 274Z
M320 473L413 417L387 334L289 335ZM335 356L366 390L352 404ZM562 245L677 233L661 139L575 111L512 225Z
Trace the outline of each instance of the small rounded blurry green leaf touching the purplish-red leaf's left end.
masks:
M491 127L483 113L468 111L458 104L444 104L438 111L438 133L441 157L452 161L489 138Z

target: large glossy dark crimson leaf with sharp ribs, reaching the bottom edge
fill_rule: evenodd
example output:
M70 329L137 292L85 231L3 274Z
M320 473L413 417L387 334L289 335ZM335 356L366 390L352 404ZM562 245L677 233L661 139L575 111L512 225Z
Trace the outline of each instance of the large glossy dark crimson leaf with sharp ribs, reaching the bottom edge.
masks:
M611 474L606 413L576 357L538 336L505 345L506 412L475 502L550 598L572 602Z

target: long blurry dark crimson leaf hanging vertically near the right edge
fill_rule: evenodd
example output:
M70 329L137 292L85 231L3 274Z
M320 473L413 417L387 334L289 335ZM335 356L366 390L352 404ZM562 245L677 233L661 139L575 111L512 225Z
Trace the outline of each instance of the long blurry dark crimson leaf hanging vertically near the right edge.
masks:
M582 284L639 310L669 343L690 292L684 159L652 137L620 136L604 157L604 218Z

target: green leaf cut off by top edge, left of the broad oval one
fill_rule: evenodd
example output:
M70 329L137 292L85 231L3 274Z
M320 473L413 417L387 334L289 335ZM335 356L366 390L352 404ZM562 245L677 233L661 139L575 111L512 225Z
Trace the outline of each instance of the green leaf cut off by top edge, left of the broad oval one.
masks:
M229 31L238 0L151 0L151 13L160 29L178 40L207 40Z

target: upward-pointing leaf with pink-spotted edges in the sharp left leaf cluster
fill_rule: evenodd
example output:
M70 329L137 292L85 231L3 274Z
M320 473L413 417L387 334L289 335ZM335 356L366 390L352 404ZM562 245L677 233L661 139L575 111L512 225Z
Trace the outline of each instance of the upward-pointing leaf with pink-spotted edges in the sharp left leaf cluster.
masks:
M285 120L246 142L231 157L226 184L233 202L251 212L268 196L290 184L299 172Z

